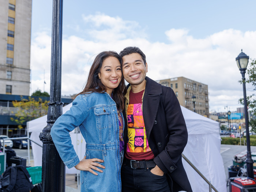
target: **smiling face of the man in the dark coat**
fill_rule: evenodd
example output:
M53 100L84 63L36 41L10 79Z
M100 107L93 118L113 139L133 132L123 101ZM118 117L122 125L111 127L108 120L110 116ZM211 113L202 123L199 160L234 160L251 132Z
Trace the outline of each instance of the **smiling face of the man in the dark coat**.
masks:
M140 85L144 82L147 73L147 63L144 64L139 53L123 56L124 79L131 85Z

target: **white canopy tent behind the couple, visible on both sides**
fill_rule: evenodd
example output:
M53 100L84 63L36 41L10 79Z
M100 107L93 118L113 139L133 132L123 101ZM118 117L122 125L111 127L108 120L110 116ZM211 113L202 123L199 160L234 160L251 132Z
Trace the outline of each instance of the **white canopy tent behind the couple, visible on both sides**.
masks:
M63 107L65 113L72 106L70 103ZM181 106L188 129L188 144L183 154L197 167L208 181L218 190L226 192L226 176L223 160L220 154L221 138L219 136L219 123L203 117ZM27 122L30 138L37 143L39 134L46 127L47 116ZM72 144L82 159L85 154L85 142L80 133L71 132ZM83 142L82 142L83 141ZM42 148L32 142L34 166L42 165ZM205 192L209 190L208 184L193 170L193 168L182 159L185 170L188 174L193 191ZM66 169L66 173L76 173L76 169Z

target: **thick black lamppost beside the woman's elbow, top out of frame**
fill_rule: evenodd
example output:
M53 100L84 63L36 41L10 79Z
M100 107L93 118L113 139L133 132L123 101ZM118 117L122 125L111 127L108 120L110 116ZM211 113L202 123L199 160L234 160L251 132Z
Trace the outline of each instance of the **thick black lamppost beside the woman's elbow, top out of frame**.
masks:
M65 165L50 135L52 125L62 114L63 105L61 102L62 12L63 0L53 0L50 102L47 125L39 135L43 142L42 192L65 192Z

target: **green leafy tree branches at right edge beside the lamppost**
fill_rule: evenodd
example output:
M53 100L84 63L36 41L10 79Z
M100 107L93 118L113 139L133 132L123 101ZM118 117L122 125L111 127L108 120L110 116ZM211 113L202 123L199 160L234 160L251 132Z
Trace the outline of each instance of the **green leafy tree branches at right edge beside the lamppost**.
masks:
M253 90L256 91L256 60L255 59L250 60L249 67L247 68L247 74L248 74L249 78L246 79L245 82L252 84L252 86L254 87ZM242 81L240 81L240 83L242 83ZM241 98L239 100L239 102L242 105L244 105L244 98ZM255 116L256 116L256 95L255 94L249 95L247 97L247 105L248 105L249 113L254 116L254 118L252 118L249 121L249 126L252 127L252 132L256 133L256 119L255 119Z

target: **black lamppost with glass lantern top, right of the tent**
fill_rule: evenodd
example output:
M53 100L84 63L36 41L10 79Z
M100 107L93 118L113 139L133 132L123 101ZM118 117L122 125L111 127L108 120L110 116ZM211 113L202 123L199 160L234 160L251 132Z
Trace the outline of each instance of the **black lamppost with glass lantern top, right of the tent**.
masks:
M241 50L242 51L242 50ZM242 83L244 91L244 116L245 116L245 130L246 130L246 144L247 144L247 155L246 155L246 167L247 167L247 176L254 178L253 174L253 160L251 155L251 144L250 144L250 133L249 133L249 122L248 122L248 111L247 111L247 99L246 99L246 88L245 88L245 71L248 65L249 56L241 52L237 58L237 66L242 74Z

